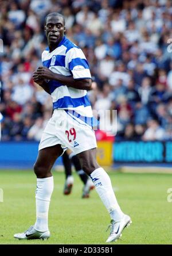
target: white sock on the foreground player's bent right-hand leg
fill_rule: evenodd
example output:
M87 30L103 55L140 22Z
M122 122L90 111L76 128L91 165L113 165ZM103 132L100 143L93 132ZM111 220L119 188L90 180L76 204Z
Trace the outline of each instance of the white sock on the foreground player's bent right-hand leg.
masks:
M92 178L92 182L95 185L101 201L110 213L111 219L115 221L120 220L124 213L121 211L118 201L116 200L109 175L100 167L94 170L90 177Z

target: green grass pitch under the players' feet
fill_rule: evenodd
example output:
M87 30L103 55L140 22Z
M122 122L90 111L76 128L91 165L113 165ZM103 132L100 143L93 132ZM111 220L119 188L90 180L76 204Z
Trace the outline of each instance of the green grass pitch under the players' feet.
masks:
M171 174L128 174L111 171L112 184L120 207L132 224L115 244L171 244ZM35 222L36 177L32 171L0 171L0 244L105 244L110 217L95 190L81 198L81 184L75 174L72 194L62 194L64 173L53 171L54 192L50 203L49 240L15 240Z

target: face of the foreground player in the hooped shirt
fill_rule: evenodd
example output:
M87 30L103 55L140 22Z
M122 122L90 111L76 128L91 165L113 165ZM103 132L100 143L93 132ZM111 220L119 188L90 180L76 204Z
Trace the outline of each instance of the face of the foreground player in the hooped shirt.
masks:
M48 44L58 44L64 36L65 26L62 17L50 16L45 25L46 37Z

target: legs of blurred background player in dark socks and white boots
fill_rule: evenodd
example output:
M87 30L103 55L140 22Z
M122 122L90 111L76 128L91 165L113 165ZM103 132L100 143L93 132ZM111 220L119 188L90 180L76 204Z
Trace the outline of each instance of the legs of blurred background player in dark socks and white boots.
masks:
M62 155L62 162L64 164L65 179L66 179L63 193L68 195L68 194L71 194L72 192L73 182L74 182L74 178L72 175L72 163L73 163L77 174L79 175L81 181L84 184L82 197L88 198L89 192L92 189L94 189L94 185L91 179L88 177L88 175L84 173L84 171L82 170L82 167L77 155L75 155L71 150L68 149Z

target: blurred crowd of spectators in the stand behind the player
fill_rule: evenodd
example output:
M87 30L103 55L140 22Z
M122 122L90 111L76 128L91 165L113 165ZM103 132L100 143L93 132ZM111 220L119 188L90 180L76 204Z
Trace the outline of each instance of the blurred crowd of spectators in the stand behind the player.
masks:
M66 36L88 59L93 111L117 110L115 139L172 139L172 1L0 0L0 10L3 141L39 141L52 115L50 95L32 79L50 12L65 16Z

